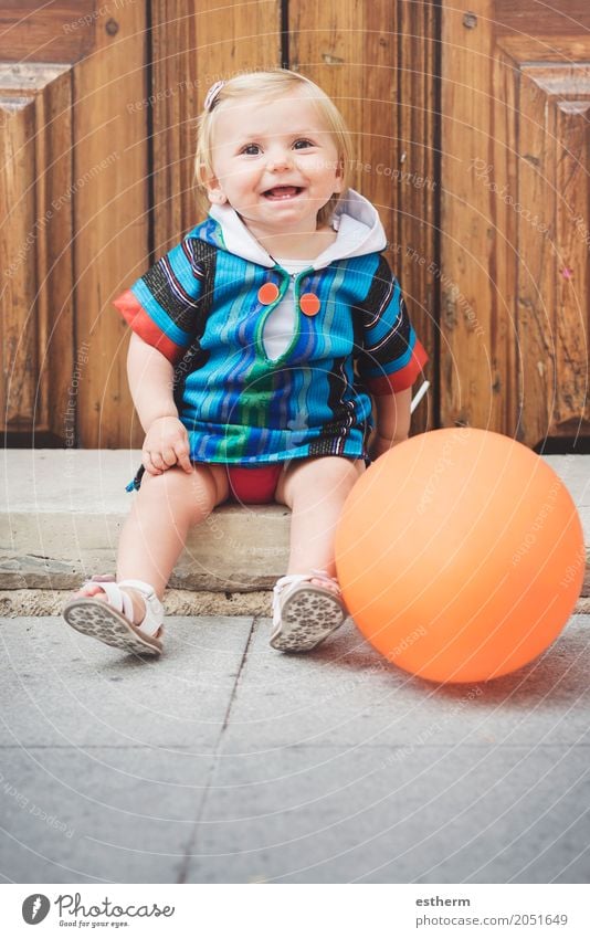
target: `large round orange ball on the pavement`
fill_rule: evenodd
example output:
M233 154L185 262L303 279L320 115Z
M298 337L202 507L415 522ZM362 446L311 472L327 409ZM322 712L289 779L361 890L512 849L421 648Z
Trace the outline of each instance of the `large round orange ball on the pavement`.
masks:
M336 534L345 601L389 661L436 682L533 661L580 593L583 533L556 473L508 436L414 436L359 478Z

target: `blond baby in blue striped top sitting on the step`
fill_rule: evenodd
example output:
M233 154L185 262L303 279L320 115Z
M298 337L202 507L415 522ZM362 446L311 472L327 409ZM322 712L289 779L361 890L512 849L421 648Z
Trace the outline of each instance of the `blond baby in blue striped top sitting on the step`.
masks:
M189 529L229 499L291 509L271 645L309 651L346 618L335 528L367 461L407 439L426 361L351 159L341 115L303 75L210 88L196 160L207 221L115 301L146 439L116 580L94 577L64 607L80 632L158 655Z

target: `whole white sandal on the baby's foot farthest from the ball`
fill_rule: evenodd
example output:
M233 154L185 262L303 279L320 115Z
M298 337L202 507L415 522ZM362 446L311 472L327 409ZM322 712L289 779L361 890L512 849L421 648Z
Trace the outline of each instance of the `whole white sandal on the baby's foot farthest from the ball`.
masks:
M69 600L62 612L67 624L83 635L91 635L126 652L161 654L162 643L157 636L164 630L164 607L154 587L143 580L120 580L117 583L114 577L93 577L82 589L92 583L101 586L106 593L106 602L92 596ZM120 587L129 587L144 597L146 614L139 625L133 622L131 598Z

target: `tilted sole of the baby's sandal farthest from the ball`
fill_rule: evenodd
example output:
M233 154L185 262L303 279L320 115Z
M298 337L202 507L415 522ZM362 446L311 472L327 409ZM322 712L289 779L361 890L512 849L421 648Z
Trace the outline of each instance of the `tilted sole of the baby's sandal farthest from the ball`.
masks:
M76 632L97 639L105 645L135 654L161 654L162 643L158 639L140 633L103 600L94 600L92 597L73 599L64 605L62 615Z

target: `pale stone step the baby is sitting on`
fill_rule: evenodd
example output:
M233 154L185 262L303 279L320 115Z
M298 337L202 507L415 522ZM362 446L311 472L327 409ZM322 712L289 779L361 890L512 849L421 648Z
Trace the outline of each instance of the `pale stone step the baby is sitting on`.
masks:
M548 456L547 462L578 505L590 544L590 456ZM125 486L139 463L138 452L124 450L4 451L0 590L19 591L27 614L46 614L61 600L55 591L115 570L120 529L134 497ZM203 611L214 604L215 594L221 599L226 593L228 614L229 609L267 614L267 594L261 591L284 573L287 557L286 508L222 506L190 534L170 580L171 590L179 591L170 594L171 609L183 614L187 591L198 591ZM36 591L43 590L52 591L51 601L40 607ZM252 592L259 596L235 604L233 597Z

